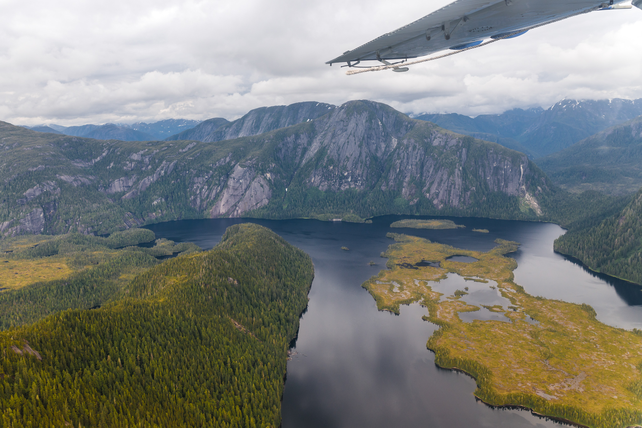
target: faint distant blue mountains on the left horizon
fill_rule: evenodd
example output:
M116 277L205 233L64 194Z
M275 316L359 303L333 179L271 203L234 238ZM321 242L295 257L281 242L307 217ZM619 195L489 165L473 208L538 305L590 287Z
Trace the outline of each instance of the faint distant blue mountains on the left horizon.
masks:
M199 123L201 123L201 121L192 119L166 119L154 123L137 122L132 125L122 123L106 123L103 125L86 124L81 126L42 124L37 126L24 126L24 128L38 132L50 132L101 140L155 141L193 128Z

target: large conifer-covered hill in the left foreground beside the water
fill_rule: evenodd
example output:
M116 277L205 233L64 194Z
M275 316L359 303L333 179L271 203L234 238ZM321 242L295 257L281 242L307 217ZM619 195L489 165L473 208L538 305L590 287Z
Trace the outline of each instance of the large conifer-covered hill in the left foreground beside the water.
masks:
M279 427L313 265L257 225L138 275L127 297L0 333L0 427Z

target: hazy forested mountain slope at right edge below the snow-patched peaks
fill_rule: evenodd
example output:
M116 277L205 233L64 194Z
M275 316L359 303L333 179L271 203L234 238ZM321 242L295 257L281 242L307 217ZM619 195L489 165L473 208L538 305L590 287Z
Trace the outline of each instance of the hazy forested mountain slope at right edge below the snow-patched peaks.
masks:
M636 193L642 187L642 116L538 159L537 164L569 191Z

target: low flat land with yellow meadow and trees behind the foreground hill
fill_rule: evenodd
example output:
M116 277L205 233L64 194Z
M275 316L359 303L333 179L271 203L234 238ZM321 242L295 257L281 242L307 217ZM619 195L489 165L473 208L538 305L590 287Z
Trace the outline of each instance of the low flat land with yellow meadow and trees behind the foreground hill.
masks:
M160 263L157 257L200 252L192 243L153 239L153 232L142 228L108 238L75 232L4 239L0 329L65 309L89 309L116 301L127 295L135 275ZM137 246L139 243L146 244Z

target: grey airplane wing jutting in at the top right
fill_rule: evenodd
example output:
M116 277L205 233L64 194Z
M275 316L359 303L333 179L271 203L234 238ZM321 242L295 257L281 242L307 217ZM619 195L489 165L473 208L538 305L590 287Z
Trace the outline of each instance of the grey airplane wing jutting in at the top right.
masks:
M514 33L544 22L627 0L456 0L398 30L326 62L404 60ZM639 3L639 0L637 0ZM636 3L636 0L634 0ZM637 6L637 5L636 5ZM625 6L630 8L631 6Z

